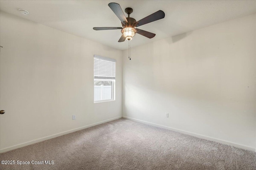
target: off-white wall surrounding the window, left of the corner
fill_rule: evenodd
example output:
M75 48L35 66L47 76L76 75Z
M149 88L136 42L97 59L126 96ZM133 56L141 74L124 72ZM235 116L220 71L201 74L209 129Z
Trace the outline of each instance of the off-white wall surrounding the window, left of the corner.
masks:
M4 12L0 31L2 151L122 116L122 51ZM94 104L94 54L117 60L115 101Z

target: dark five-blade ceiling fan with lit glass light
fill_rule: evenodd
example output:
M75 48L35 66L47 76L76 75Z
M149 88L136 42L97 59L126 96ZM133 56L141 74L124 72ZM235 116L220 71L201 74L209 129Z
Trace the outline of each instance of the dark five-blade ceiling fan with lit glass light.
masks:
M118 40L118 42L124 42L125 40L132 40L132 37L138 33L148 38L153 38L156 34L150 33L148 31L144 31L142 29L138 29L135 27L139 27L146 23L150 23L156 20L160 20L164 18L165 14L163 11L159 10L139 21L136 21L134 18L130 18L130 14L132 14L132 8L126 8L125 12L128 14L128 18L125 17L124 12L122 11L121 7L117 3L109 3L108 6L111 10L116 14L119 20L122 23L122 27L94 27L94 30L109 30L109 29L121 29L122 36Z

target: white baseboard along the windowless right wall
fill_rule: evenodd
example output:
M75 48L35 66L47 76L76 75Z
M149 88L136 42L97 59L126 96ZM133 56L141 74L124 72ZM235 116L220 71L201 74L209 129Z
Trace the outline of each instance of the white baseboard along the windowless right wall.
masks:
M198 137L198 138L201 138L201 139L206 139L206 140L209 140L209 141L223 143L223 144L226 144L226 145L231 145L231 146L238 147L238 148L241 148L241 149L246 149L246 150L251 150L251 151L256 152L256 149L253 148L253 147L250 147L250 146L246 146L246 145L242 145L242 144L238 144L238 143L233 143L233 142L230 142L230 141L225 141L225 140L222 140L222 139L216 139L214 137L208 137L208 136L200 135L200 134L197 134L197 133L183 131L183 130L180 130L180 129L176 129L176 128L172 128L172 127L168 127L168 126L164 126L164 125L159 125L159 124L156 124L156 123L151 123L151 122L143 121L143 120L139 120L139 119L134 119L134 118L131 118L131 117L123 116L123 118L133 120L133 121L138 121L138 122L145 123L145 124L152 125L152 126L156 126L156 127L162 127L164 129L169 129L169 130L172 130L172 131L184 133L184 134L191 135L191 136L194 136L194 137Z

